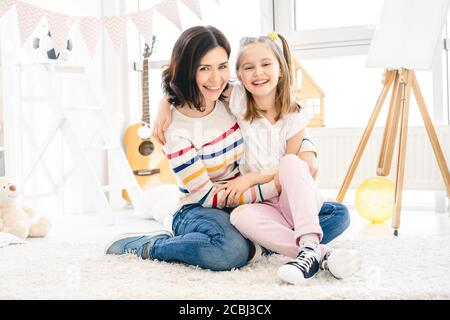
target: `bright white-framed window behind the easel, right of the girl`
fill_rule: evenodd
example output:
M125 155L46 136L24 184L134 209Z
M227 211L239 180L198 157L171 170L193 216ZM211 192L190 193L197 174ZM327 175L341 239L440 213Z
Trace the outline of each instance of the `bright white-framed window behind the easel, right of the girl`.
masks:
M382 4L382 0L275 2L276 30L287 36L294 54L325 93L326 127L363 127L373 111L383 70L367 68L365 61ZM442 63L447 58L442 56L443 60L437 56L432 71L416 72L430 115L440 124L449 122L443 85L447 64ZM384 126L385 109L377 126ZM423 123L417 109L411 95L410 125Z

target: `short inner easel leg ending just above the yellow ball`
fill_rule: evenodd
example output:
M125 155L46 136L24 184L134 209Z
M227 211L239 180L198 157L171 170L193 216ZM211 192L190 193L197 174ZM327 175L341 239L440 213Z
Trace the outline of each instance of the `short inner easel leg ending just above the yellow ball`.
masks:
M392 99L389 106L389 114L384 129L383 144L381 146L377 175L387 176L391 171L392 155L394 154L395 141L397 139L398 124L400 122L400 103L404 87L399 85L399 72L397 71Z

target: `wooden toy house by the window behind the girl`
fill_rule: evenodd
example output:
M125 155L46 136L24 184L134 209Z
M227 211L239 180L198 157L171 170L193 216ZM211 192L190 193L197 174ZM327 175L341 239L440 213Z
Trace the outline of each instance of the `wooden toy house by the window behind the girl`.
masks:
M308 127L324 127L325 94L295 57L293 57L293 63L295 97L300 104L313 115Z

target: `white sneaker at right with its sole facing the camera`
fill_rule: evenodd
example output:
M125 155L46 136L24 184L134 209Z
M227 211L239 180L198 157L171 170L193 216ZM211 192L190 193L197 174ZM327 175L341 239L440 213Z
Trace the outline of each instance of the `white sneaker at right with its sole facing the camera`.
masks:
M323 258L320 269L328 270L336 279L345 279L361 269L362 257L356 250L333 249Z

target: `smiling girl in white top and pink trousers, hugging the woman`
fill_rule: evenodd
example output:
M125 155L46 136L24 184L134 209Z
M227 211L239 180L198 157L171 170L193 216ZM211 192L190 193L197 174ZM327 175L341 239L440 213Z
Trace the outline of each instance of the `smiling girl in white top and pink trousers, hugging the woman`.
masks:
M297 156L309 117L293 97L293 71L286 40L276 34L241 40L236 72L242 83L234 87L230 109L246 141L239 165L242 177L227 182L217 191L235 199L248 187L242 180L251 172L278 172L279 197L233 210L231 223L248 239L272 251L294 258L278 270L281 279L300 283L320 269L329 249L319 245L330 241L326 221L321 227L321 209L346 211L337 203L323 203L307 165ZM268 137L267 143L264 137ZM267 140L267 139L266 139ZM349 220L347 221L349 223ZM322 229L326 229L325 234ZM336 232L337 230L334 230ZM353 252L340 251L344 260ZM332 273L346 277L359 268L360 259ZM339 268L341 269L341 268ZM334 271L334 272L333 272Z

